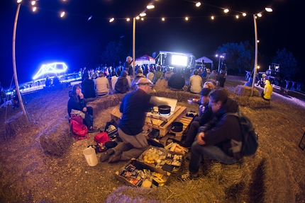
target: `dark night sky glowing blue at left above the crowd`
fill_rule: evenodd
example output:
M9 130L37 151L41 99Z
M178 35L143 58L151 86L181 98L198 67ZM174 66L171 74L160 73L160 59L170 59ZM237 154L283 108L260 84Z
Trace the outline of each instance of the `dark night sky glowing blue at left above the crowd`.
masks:
M132 49L132 18L144 11L150 2L40 0L36 4L38 11L33 13L30 1L23 0L16 31L18 82L32 81L40 65L46 62L65 62L70 72L84 66L94 68L103 63L101 52L111 41L121 40L126 48ZM257 18L259 52L265 57L274 57L278 49L285 47L299 66L304 66L301 60L304 46L301 1L207 0L201 1L197 8L193 1L158 0L154 5L154 9L146 11L144 21L136 21L135 50L138 54L135 57L151 56L160 50L191 52L196 58L209 57L217 65L214 57L217 47L246 40L255 46L253 14L264 11L262 18ZM267 13L266 6L271 6L273 12ZM16 8L15 0L0 3L0 81L4 88L9 88L13 77L12 37ZM221 8L228 8L230 12L223 13ZM60 18L60 11L65 11L65 18ZM235 11L248 15L236 19L238 13ZM92 16L90 21L89 16ZM185 16L189 21L184 20ZM211 16L215 16L214 21ZM112 17L115 21L109 23ZM127 17L131 21L127 22ZM165 21L161 21L162 17ZM124 62L125 58L121 60Z

